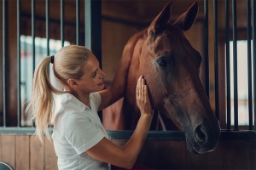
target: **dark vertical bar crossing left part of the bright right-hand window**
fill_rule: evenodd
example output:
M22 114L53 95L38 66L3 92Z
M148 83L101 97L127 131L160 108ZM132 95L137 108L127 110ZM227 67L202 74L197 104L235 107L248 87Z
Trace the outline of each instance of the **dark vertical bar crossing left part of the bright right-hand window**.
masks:
M234 130L238 130L236 0L232 0L232 21L233 21L233 72L234 72Z

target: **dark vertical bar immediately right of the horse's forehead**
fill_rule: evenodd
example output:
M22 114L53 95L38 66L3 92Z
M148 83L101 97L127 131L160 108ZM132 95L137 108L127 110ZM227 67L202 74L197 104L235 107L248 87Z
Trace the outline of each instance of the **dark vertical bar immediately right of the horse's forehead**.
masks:
M208 31L208 25L209 25L209 22L208 22L208 0L204 0L204 55L205 55L205 65L206 65L206 93L207 93L207 97L210 98L210 78L209 78L209 49L208 49L208 45L209 45L209 31Z

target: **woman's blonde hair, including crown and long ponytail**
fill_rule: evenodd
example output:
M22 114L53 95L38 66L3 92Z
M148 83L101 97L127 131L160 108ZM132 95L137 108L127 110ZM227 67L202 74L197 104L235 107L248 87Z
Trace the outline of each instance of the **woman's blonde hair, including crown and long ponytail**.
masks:
M82 70L91 52L78 45L61 48L54 55L53 72L62 88L67 87L68 78L79 79L84 75ZM49 65L51 58L44 57L38 64L33 79L32 97L28 101L28 109L32 109L32 119L36 123L36 135L43 143L43 135L50 139L49 124L53 115L55 94L66 94L52 86L49 81ZM26 111L27 111L26 110Z

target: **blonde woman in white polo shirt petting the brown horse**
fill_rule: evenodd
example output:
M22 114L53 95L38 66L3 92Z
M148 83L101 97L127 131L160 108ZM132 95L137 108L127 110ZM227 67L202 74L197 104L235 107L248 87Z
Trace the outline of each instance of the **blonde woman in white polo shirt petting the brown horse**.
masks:
M61 48L54 56L45 57L38 64L29 107L32 108L39 139L42 140L44 134L50 138L48 127L53 114L53 93L61 94L61 107L55 113L52 134L59 169L108 169L108 163L133 167L153 117L143 77L137 81L137 105L141 116L131 139L123 148L108 139L97 114L124 94L131 61L123 58L121 62L126 66L119 67L113 85L108 89L104 89L105 75L96 56L82 46ZM51 85L50 64L64 91Z

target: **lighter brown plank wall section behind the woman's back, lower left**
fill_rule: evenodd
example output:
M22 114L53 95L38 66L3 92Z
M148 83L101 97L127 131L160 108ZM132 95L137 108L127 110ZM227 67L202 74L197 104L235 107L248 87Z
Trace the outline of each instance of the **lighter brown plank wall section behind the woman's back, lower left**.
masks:
M53 144L29 134L1 134L0 160L15 170L57 170Z

